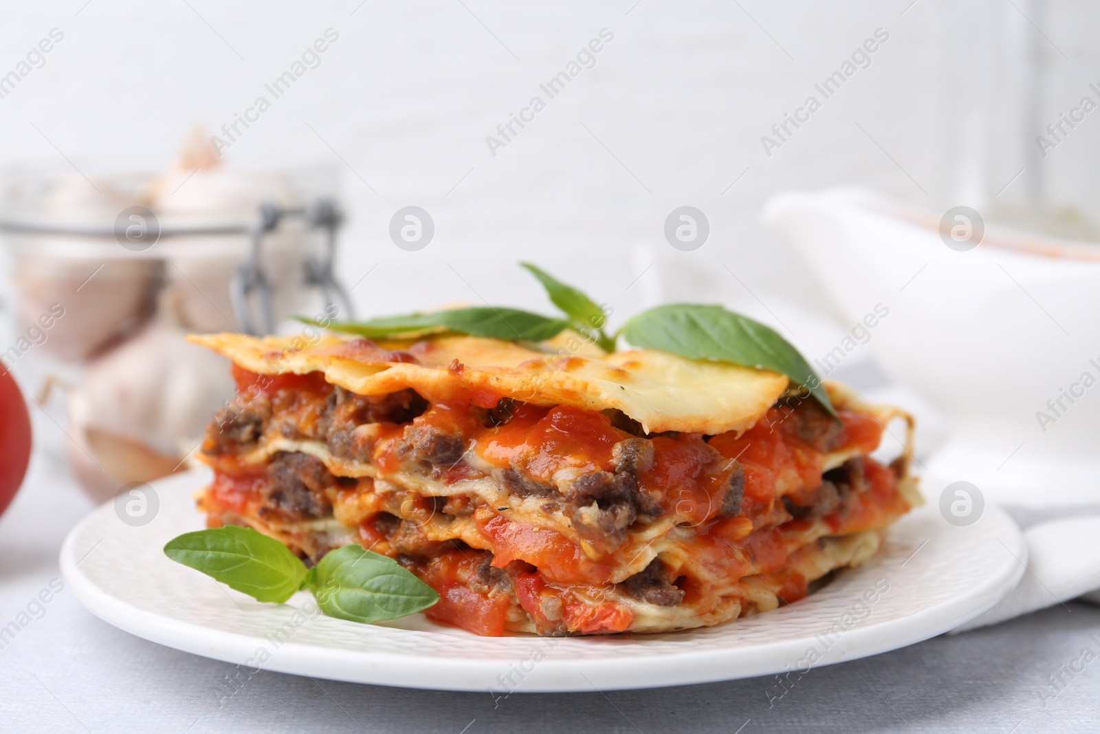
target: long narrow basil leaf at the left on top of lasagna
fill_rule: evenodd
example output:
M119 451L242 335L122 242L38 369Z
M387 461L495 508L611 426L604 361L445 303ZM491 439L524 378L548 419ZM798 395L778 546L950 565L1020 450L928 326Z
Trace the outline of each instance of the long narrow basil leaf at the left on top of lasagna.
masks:
M309 319L302 320L316 324ZM569 321L548 318L518 308L476 306L431 314L384 316L365 321L331 321L323 326L333 331L354 333L367 339L452 332L491 339L543 341L561 333L562 329L569 326Z

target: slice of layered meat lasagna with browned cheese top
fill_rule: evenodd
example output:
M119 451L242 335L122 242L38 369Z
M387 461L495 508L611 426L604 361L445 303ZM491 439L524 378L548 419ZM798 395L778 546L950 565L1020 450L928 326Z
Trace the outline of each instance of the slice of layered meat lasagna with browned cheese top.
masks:
M208 525L307 562L358 543L480 635L669 632L806 595L919 502L893 409L648 350L444 336L194 337L233 362L209 425ZM576 343L573 339L573 343ZM910 434L911 427L910 427Z

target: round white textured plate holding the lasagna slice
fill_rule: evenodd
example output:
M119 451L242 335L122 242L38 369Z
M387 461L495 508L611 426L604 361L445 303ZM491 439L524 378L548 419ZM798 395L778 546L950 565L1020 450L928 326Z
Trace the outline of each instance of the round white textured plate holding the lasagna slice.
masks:
M161 550L167 540L204 527L190 495L207 480L193 472L154 482L152 519L140 527L123 523L112 503L85 517L61 555L77 598L110 624L180 650L383 686L501 695L805 671L947 632L1013 589L1027 560L1019 528L996 507L955 527L930 505L903 518L870 563L774 612L662 635L477 637L421 614L377 625L310 617L296 609L309 601L305 593L289 605L262 604L168 560ZM136 497L123 500L141 510ZM876 588L887 591L875 595Z

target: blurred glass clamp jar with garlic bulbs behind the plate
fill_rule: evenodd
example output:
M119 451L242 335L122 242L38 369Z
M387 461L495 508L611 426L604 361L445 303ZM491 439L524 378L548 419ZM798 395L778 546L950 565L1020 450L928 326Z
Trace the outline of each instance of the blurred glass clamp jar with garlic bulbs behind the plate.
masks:
M0 360L64 387L66 453L97 499L185 469L232 396L228 362L187 333L352 316L329 169L25 169L0 186L16 319Z

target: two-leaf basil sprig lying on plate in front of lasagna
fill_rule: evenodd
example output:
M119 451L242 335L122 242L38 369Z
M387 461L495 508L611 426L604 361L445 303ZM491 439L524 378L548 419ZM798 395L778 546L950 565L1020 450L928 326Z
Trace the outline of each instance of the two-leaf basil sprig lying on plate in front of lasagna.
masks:
M283 603L308 590L327 615L363 624L407 616L439 601L396 561L356 545L330 550L307 571L275 538L227 525L173 538L164 555L260 602Z

